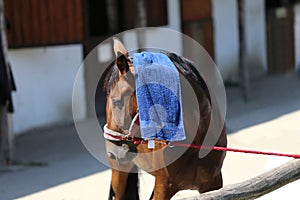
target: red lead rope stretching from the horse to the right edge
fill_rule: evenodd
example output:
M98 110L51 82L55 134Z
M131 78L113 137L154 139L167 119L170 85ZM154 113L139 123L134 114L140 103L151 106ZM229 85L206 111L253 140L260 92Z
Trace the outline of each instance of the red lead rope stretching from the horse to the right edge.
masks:
M201 146L201 145L185 144L179 142L172 142L171 146L190 147L194 149L208 149L208 150L215 150L215 151L231 151L231 152L239 152L239 153L271 155L271 156L283 156L283 157L300 159L300 154L285 154L285 153L274 153L274 152L265 152L265 151L255 151L255 150L244 150L244 149L236 149L236 148L228 148L228 147Z

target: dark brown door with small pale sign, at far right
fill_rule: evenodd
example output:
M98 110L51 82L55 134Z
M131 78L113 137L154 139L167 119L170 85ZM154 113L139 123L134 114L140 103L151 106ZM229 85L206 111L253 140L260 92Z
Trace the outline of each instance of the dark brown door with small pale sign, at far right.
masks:
M285 73L295 68L295 0L266 0L268 71Z

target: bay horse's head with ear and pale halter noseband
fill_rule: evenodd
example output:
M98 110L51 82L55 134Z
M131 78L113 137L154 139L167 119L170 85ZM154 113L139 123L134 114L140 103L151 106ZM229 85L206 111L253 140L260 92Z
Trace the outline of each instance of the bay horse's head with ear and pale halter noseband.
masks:
M117 38L114 38L115 62L110 65L104 88L107 92L106 121L107 132L111 135L126 136L130 125L137 114L133 63L128 51ZM135 145L131 142L118 141L110 137L107 142L109 158L118 161L131 160L135 154ZM131 152L131 153L130 153Z

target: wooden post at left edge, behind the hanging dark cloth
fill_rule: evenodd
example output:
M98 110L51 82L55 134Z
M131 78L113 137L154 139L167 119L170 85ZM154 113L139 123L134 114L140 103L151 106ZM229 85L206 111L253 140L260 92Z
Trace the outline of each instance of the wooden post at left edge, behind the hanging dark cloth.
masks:
M5 64L8 66L3 0L0 0L0 31L0 38L2 39L2 46L0 46L0 48L2 48ZM0 165L11 164L14 155L14 134L11 128L11 115L8 113L7 105L0 106L0 141L0 154L2 154L2 156L0 156Z

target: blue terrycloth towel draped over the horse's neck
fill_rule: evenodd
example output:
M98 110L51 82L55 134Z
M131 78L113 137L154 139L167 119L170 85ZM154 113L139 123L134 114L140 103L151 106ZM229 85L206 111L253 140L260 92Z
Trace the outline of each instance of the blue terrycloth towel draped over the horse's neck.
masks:
M162 53L135 53L140 129L146 140L184 140L179 73Z

